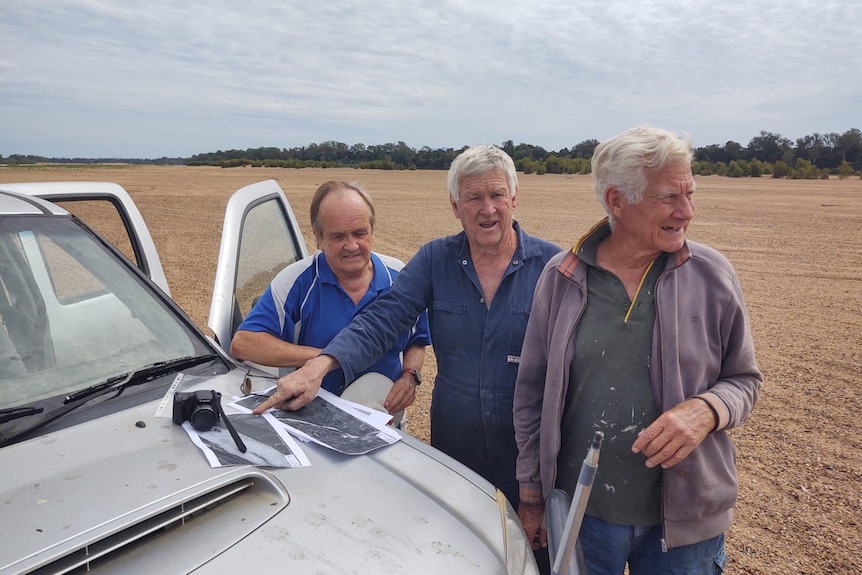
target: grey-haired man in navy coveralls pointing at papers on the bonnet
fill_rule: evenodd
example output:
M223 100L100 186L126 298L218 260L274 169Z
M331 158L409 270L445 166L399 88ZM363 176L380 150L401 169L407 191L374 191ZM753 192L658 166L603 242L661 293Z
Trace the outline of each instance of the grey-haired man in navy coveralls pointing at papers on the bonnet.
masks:
M302 369L278 382L270 407L298 409L326 373L348 379L392 347L428 310L437 377L431 444L500 488L517 507L512 423L515 377L536 280L560 248L514 220L518 179L494 146L462 152L448 174L450 204L463 231L428 242L369 305Z

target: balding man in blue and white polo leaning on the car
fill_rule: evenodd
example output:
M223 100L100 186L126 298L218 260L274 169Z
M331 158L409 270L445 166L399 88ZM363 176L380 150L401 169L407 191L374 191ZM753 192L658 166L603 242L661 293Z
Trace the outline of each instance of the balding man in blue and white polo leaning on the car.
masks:
M287 266L272 280L233 338L234 357L275 367L301 367L356 314L389 291L404 267L400 260L371 251L375 211L359 186L322 184L310 212L319 251ZM385 405L390 413L398 413L415 399L425 346L430 343L427 313L422 313L383 356L353 375L378 372L390 378L394 385ZM339 369L326 376L322 387L341 395L352 381L345 381Z

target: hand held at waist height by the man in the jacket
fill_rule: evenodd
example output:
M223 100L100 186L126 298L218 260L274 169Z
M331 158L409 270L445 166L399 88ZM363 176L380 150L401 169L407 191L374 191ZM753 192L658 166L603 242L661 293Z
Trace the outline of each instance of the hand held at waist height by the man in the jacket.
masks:
M646 466L673 467L695 450L715 428L715 415L703 400L691 398L659 416L638 434L633 453L647 456Z

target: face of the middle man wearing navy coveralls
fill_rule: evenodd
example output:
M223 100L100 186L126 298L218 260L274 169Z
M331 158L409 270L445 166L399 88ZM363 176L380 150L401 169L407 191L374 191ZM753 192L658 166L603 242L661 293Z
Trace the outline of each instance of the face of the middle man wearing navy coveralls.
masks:
M461 178L460 201L451 202L471 249L494 249L512 233L517 197L497 170Z

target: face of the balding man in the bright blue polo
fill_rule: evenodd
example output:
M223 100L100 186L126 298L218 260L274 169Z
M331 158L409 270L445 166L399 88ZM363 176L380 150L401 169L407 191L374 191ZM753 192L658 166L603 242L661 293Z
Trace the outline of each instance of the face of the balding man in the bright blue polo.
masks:
M323 227L317 245L339 279L361 275L371 265L374 230L365 200L353 190L338 190L320 203Z

